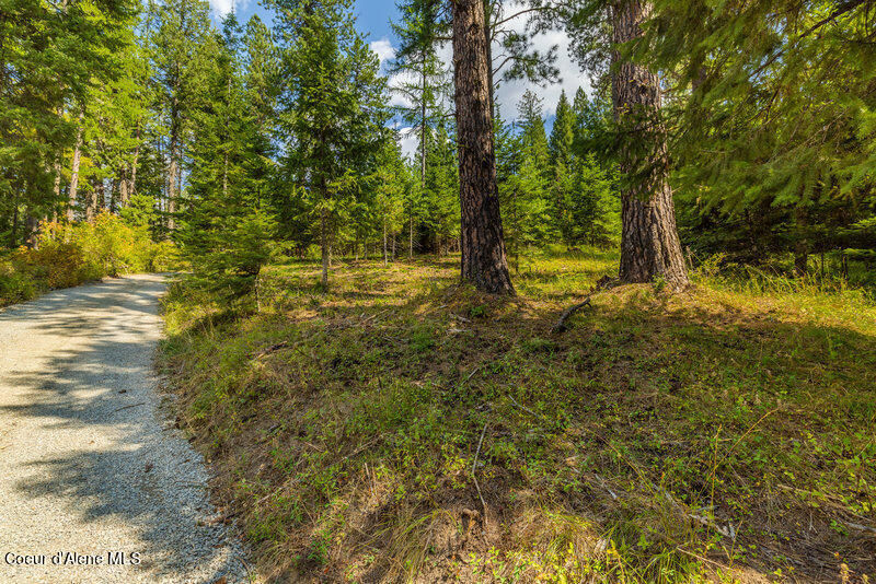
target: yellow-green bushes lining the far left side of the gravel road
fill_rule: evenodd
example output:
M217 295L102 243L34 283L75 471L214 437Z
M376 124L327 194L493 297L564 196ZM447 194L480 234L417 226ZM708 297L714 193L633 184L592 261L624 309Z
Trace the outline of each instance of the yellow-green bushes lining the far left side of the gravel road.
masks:
M31 248L0 253L0 307L91 280L178 266L171 242L110 213L91 222L47 223Z

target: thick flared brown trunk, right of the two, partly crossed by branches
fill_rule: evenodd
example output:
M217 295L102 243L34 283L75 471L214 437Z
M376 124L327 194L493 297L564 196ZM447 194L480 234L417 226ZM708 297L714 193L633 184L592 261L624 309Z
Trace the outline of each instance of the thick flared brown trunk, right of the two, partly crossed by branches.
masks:
M613 40L622 44L642 36L641 23L652 10L648 0L616 0L612 5ZM626 132L621 172L630 182L622 190L622 282L664 278L672 288L688 285L684 257L676 227L672 190L667 179L666 133L658 120L661 106L656 74L612 52L614 119Z

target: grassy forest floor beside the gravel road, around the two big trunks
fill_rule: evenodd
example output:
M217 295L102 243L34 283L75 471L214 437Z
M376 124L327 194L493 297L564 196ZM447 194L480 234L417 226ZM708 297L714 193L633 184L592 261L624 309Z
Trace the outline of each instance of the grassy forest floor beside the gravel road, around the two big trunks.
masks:
M876 304L765 275L621 287L611 254L268 269L181 285L163 364L215 493L289 582L865 582Z

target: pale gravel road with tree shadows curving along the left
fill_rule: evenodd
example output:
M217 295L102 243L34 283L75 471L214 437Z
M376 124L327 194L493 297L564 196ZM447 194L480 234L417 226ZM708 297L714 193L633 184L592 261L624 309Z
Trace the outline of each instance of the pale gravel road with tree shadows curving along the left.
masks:
M136 276L0 312L0 582L247 581L203 459L165 429L163 290Z

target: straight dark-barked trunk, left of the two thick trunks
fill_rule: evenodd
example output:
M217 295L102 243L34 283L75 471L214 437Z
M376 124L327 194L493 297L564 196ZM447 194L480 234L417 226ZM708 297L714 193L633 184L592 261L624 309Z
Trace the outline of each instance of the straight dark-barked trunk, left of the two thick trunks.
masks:
M499 214L483 0L453 2L462 280L514 295Z

